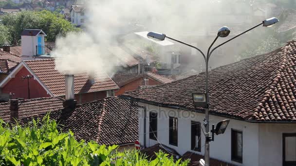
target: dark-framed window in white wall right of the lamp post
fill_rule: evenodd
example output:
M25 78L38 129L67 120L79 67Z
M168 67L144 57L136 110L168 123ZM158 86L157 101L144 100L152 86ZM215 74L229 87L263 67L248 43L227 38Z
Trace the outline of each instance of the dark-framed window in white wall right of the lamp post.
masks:
M242 132L231 129L231 160L242 163Z

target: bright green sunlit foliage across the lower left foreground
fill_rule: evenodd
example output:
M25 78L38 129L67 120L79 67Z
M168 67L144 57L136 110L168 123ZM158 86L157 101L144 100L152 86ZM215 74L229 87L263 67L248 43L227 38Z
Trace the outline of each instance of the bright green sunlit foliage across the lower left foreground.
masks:
M163 152L149 161L136 150L119 152L117 146L76 141L69 131L57 130L49 115L26 126L5 124L0 120L0 165L15 166L186 166L188 161L174 162Z

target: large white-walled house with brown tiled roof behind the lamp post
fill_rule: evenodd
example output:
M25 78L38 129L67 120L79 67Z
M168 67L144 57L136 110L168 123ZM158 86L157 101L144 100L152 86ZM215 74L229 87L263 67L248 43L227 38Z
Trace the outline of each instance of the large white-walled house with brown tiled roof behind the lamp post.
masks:
M210 125L231 119L225 133L211 142L211 158L238 166L296 162L295 52L296 41L291 41L209 72ZM204 86L203 72L124 94L139 102L141 145L158 143L180 155L203 155L204 110L194 107L192 92Z

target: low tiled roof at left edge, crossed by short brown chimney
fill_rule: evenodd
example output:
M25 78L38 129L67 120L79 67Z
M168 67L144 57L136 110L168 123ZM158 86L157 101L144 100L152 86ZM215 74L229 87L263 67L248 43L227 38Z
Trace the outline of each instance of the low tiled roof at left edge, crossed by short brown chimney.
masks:
M19 119L60 110L63 101L58 97L19 100ZM10 102L0 103L0 118L6 122L10 120Z

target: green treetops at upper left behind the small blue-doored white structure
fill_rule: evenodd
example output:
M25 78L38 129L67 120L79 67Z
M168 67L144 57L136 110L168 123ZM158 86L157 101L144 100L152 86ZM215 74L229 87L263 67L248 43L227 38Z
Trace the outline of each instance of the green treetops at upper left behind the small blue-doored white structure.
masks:
M48 41L55 41L57 35L65 35L70 31L79 31L62 15L50 11L22 11L1 17L2 24L9 29L12 36L10 43L20 43L20 34L24 29L41 29L47 34Z

